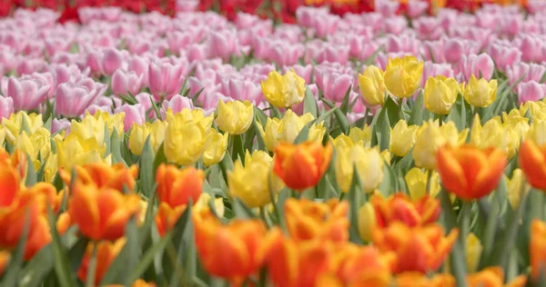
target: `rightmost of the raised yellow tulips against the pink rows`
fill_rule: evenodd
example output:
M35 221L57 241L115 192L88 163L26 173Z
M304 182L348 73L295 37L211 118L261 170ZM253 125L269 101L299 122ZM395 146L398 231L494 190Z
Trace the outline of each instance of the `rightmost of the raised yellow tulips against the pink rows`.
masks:
M493 103L497 97L497 80L489 82L484 78L478 80L472 74L463 95L469 104L476 107L486 107Z

